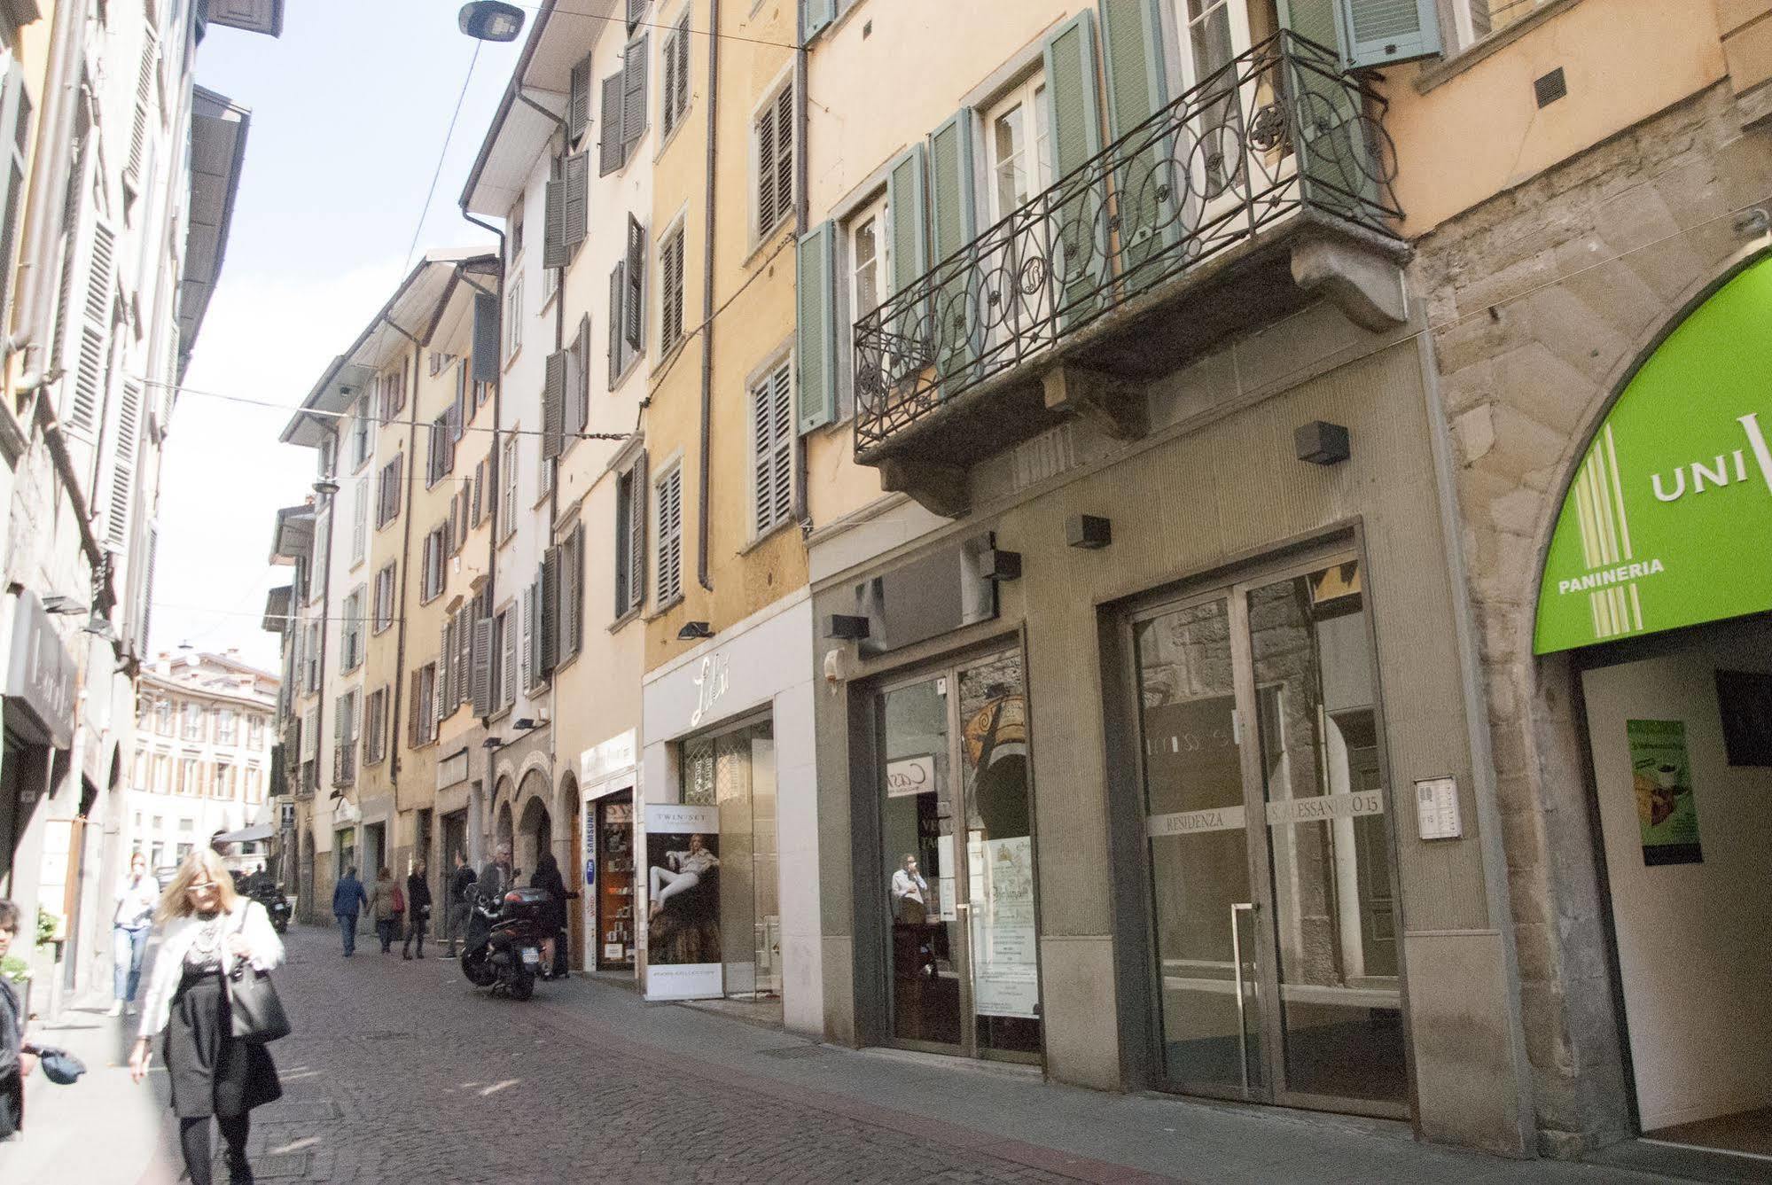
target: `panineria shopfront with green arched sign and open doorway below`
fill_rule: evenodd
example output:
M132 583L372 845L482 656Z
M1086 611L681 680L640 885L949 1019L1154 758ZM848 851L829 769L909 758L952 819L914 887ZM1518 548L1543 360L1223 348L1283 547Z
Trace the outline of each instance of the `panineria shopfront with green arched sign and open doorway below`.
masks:
M1563 498L1568 662L1636 1128L1772 1157L1772 260L1636 368Z

